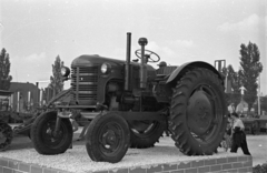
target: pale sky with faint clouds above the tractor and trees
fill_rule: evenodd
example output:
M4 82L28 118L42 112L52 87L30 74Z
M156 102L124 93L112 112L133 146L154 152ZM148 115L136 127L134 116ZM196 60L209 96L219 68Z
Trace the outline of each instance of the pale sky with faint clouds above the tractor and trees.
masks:
M131 59L145 37L171 65L226 60L237 71L240 44L256 43L267 94L266 0L0 0L0 48L14 82L47 86L57 55L68 67L81 54L125 60L127 32Z

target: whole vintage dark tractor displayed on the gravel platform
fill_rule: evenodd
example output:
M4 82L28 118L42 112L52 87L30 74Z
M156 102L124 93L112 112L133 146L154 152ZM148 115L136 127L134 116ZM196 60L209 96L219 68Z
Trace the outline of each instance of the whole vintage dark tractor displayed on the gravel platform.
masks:
M130 60L131 33L127 33L126 61L97 54L80 55L71 70L71 100L36 119L31 128L33 146L40 154L59 154L69 149L69 119L80 114L91 120L86 147L92 161L116 163L128 147L151 147L168 129L176 146L186 155L210 155L226 129L224 77L209 63L196 61L180 67L148 62L160 57L146 50L140 38ZM70 74L71 71L71 74ZM70 75L69 75L70 74Z

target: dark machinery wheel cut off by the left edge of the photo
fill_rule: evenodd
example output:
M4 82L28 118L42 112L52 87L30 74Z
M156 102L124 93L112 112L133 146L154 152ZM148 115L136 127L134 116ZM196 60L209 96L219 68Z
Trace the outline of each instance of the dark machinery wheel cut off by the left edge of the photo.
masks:
M0 121L0 151L4 151L9 147L13 139L12 128Z

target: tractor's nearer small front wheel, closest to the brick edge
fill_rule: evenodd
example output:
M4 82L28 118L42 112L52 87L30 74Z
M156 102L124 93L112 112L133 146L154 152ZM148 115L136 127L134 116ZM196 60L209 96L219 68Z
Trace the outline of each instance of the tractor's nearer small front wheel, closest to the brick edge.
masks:
M129 141L126 120L116 113L105 113L91 121L86 134L86 149L92 161L117 163L125 156Z

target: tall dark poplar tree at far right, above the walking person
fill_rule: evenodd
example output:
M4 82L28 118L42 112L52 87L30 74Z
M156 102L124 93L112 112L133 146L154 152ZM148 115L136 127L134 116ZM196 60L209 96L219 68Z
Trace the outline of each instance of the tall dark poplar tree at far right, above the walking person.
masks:
M244 100L248 103L248 111L253 108L257 99L257 79L263 71L263 64L259 62L260 53L258 47L249 41L248 45L240 45L240 69L238 75L244 85Z

